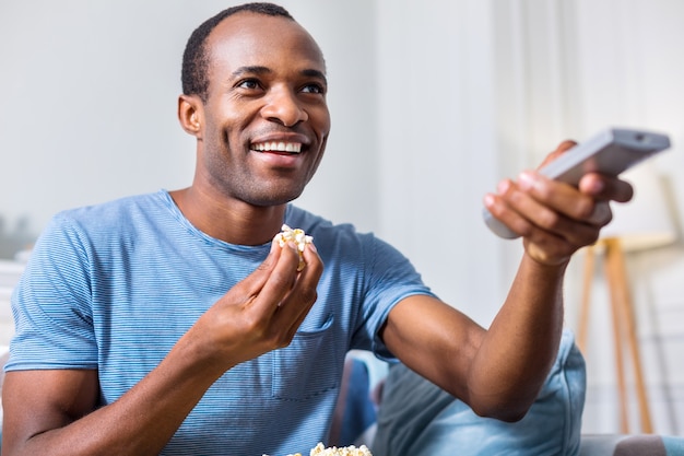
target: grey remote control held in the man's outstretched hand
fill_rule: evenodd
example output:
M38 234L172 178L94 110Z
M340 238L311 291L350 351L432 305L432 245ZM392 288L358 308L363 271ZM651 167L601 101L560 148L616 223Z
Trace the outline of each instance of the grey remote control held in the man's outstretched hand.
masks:
M542 167L539 173L576 186L587 173L617 176L668 148L670 148L670 138L667 135L610 128L566 151ZM499 237L507 239L519 237L492 217L486 208L483 211L483 217L490 230Z

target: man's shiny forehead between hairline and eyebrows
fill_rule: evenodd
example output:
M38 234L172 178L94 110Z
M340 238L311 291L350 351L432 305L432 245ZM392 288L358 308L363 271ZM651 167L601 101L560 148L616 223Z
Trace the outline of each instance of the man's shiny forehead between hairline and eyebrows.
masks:
M241 67L271 70L318 70L325 73L320 48L295 21L240 12L223 20L207 39L210 68L235 71Z

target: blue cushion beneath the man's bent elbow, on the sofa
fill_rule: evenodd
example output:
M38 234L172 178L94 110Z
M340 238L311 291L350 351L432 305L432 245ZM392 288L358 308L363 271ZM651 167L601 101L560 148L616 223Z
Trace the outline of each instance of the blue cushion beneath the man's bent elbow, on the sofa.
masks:
M374 456L577 455L586 393L585 360L569 330L527 416L482 418L402 364L385 383Z

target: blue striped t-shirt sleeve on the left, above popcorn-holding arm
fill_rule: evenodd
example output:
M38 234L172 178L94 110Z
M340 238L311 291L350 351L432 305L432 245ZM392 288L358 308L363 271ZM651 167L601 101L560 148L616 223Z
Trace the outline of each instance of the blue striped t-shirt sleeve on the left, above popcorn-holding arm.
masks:
M85 236L56 215L12 294L15 335L7 371L96 369L91 258Z

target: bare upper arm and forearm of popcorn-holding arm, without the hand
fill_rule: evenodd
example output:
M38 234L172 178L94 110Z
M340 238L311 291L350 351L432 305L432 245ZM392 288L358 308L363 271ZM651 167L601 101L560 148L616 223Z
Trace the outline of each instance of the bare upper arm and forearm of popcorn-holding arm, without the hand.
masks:
M193 365L191 346L178 343L138 385L102 408L96 371L9 372L2 454L158 454L221 375Z

